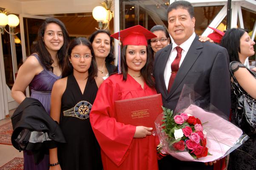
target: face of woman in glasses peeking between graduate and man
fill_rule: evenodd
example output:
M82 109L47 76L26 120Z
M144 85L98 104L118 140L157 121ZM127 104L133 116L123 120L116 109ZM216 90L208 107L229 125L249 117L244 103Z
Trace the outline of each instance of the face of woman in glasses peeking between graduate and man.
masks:
M154 51L154 53L156 53L157 51L161 50L162 48L170 44L170 39L167 38L164 31L157 30L157 31L153 31L152 33L157 36L156 38L151 39L151 48ZM158 40L158 41L154 42L154 40ZM165 41L162 41L162 40L165 40Z

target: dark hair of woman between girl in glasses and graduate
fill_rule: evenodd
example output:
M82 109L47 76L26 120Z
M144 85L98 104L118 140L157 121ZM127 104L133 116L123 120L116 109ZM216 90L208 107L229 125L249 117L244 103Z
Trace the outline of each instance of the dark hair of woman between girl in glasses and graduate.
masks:
M94 31L94 33L92 33L92 34L90 35L90 37L88 38L88 40L89 40L89 41L91 42L91 44L92 44L92 42L94 41L95 36L96 36L97 34L99 34L99 33L108 34L108 37L110 38L110 51L109 51L108 56L107 56L106 59L105 59L105 62L111 63L112 61L115 60L115 57L114 57L114 46L113 46L113 41L114 41L114 39L113 39L113 37L110 37L110 35L111 35L110 32L107 31L107 30L104 30L104 29L99 29L99 30L97 30L97 31Z

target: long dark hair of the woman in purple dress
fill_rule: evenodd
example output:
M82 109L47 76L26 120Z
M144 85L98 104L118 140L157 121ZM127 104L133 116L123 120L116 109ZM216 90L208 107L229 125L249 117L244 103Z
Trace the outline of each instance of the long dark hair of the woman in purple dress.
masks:
M58 26L60 26L62 33L63 33L63 45L60 48L60 50L57 52L57 57L59 60L58 65L60 66L60 68L63 68L63 59L65 57L66 54L66 50L68 48L68 42L69 42L69 36L68 36L68 31L64 25L63 22L61 22L60 20L58 20L57 18L46 18L46 20L44 20L43 24L40 26L40 28L38 29L38 33L37 33L37 41L34 44L31 52L32 53L37 53L38 57L41 61L41 63L43 64L43 66L50 70L53 71L53 67L51 66L53 63L53 60L51 58L51 54L48 52L48 50L46 49L46 45L43 42L43 36L45 34L46 31L46 27L48 26L48 24L50 23L55 23Z

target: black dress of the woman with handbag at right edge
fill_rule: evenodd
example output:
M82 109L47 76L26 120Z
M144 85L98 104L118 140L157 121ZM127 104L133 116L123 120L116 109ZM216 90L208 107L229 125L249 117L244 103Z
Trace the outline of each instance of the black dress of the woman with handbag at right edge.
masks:
M231 65L231 71L233 74L239 68L245 68L245 66L240 62L235 62ZM256 78L256 73L253 76ZM233 93L233 90L231 90L231 122L237 125L235 109L236 95ZM256 159L256 134L251 135L250 138L237 149L239 150L234 150L232 153L230 153L228 170L256 170L256 160L253 159ZM244 151L245 153L240 150ZM247 153L253 156L253 158Z

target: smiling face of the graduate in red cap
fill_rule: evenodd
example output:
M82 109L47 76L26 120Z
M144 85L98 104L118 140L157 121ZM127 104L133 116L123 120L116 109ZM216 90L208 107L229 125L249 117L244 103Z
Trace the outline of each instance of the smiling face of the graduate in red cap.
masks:
M125 56L128 73L134 76L138 75L147 61L147 46L127 45Z

